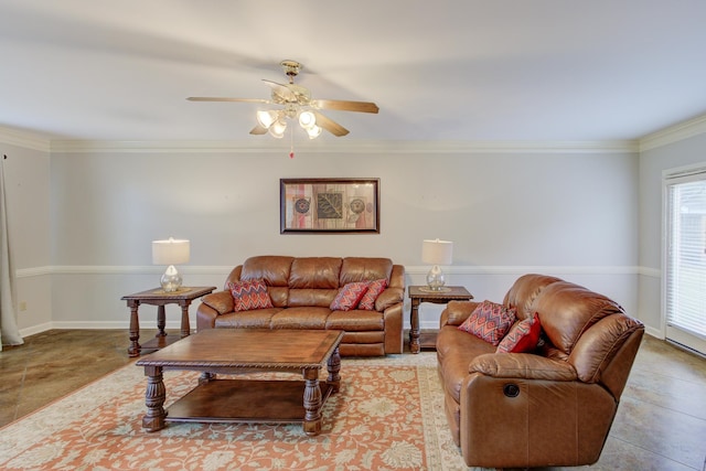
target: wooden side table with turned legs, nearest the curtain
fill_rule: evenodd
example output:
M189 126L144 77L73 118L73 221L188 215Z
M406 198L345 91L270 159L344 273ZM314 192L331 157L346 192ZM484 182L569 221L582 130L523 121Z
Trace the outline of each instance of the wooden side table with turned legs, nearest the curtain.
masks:
M161 288L150 289L147 291L136 292L135 295L124 296L122 300L128 302L130 308L130 346L128 347L128 355L139 356L142 350L159 350L183 339L191 333L189 325L189 306L191 301L196 298L201 298L204 295L208 295L215 286L211 287L182 287L176 291L167 292ZM138 317L138 309L140 304L157 306L157 335L154 339L147 342L145 345L140 345L140 319ZM181 335L169 335L164 332L164 325L167 324L167 315L164 306L179 304L181 306Z

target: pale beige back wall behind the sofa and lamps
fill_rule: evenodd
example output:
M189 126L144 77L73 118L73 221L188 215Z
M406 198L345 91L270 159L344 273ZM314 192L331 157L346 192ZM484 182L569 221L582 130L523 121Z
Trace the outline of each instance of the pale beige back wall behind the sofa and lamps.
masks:
M279 179L381 179L381 234L281 235ZM150 240L191 239L186 282L221 287L250 255L387 256L424 282L421 240L454 242L449 282L501 300L527 271L637 306L638 156L605 149L52 152L53 322L122 327L157 285ZM149 309L149 308L148 308ZM422 327L438 307L424 306ZM148 319L151 320L152 315ZM172 318L175 322L175 319Z

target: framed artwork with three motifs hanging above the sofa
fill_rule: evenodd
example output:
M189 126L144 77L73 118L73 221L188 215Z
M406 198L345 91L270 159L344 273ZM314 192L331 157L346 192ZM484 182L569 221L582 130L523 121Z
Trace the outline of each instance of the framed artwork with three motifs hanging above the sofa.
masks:
M379 179L280 179L280 234L379 234Z

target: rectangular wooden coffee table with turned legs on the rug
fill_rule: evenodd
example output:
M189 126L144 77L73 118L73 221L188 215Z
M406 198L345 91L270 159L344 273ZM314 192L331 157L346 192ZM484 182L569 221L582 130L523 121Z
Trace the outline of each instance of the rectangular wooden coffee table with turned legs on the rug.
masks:
M321 431L321 409L339 390L343 331L208 329L136 362L145 367L147 414L142 427L167 421L302 422L309 436ZM327 364L327 381L319 373ZM201 372L199 385L164 409L164 370ZM216 378L216 374L289 372L302 381ZM169 415L168 415L169 413Z

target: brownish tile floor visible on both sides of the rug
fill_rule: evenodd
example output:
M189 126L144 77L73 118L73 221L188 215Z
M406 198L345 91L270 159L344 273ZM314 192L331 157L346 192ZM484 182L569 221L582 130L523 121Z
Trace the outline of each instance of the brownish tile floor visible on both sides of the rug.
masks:
M154 332L142 332L142 339ZM0 352L0 427L133 361L122 330L52 330ZM706 471L706 360L645 335L591 470Z

